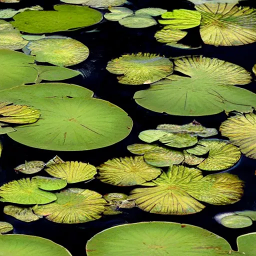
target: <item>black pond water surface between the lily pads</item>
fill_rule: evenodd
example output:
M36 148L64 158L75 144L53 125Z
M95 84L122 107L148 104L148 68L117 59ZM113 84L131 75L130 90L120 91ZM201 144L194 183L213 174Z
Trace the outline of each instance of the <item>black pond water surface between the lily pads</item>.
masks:
M21 8L39 4L44 9L52 9L53 4L60 3L57 0L31 1L21 0L19 4L0 4L0 8ZM246 5L256 7L255 1L247 1ZM139 9L142 7L162 7L168 10L176 8L193 9L193 4L182 1L167 1L167 0L131 0L131 4L127 7L132 9ZM97 28L96 32L87 32ZM122 85L117 83L116 75L110 74L105 70L108 60L118 57L124 53L132 52L150 52L159 53L166 57L182 56L182 55L197 55L202 54L207 57L217 57L232 63L238 64L247 70L251 70L253 64L256 63L256 43L235 46L235 47L215 47L211 45L202 44L202 48L195 50L182 50L162 43L156 42L154 33L159 30L159 26L153 26L143 29L125 28L118 24L118 22L102 21L101 23L89 27L87 29L80 29L73 32L59 32L61 34L70 36L87 45L90 50L89 57L81 64L72 66L74 69L83 71L84 77L75 77L65 82L79 84L94 91L94 95L109 100L110 102L123 108L132 118L134 125L130 135L123 141L102 149L95 149L90 151L78 152L57 152L47 151L41 149L30 148L8 138L7 135L1 136L3 143L3 152L0 158L0 185L12 179L24 177L22 174L16 174L13 167L24 160L43 160L47 161L56 154L64 160L79 160L90 162L98 165L105 160L112 157L119 157L130 155L126 150L128 144L137 143L139 139L137 135L144 129L155 128L160 123L176 123L184 124L196 119L202 125L207 127L215 127L218 129L220 123L226 119L224 113L204 116L204 117L179 117L167 114L158 114L152 111L143 109L138 106L132 96L136 90L146 87L146 85L132 86ZM191 31L191 30L190 30ZM197 28L190 32L190 36L185 41L198 45L201 43L199 31ZM246 85L246 88L256 92L256 83L252 82ZM221 136L216 136L221 138ZM209 231L212 231L228 240L233 249L236 249L235 240L240 234L252 232L256 230L256 224L247 228L228 229L219 225L213 219L216 213L233 210L254 209L256 210L256 176L254 175L256 169L256 161L242 156L238 165L229 170L230 173L237 174L245 182L245 191L242 199L232 205L207 207L200 213L173 216L173 215L158 215L143 212L137 208L127 209L124 214L116 216L104 216L100 220L84 223L84 224L56 224L45 219L40 219L36 222L25 223L18 221L13 217L2 213L3 203L0 203L0 221L8 221L13 224L15 233L33 234L49 238L64 247L66 247L73 256L85 255L86 241L95 233L111 227L113 225L122 223L132 223L138 221L173 221L194 224ZM40 173L46 175L46 173ZM203 174L207 174L204 172ZM72 185L74 186L74 185ZM103 184L98 180L93 180L86 184L75 184L75 187L83 187L96 190L102 194L108 192L124 192L128 193L130 188L121 188ZM121 238L121 237L120 237Z

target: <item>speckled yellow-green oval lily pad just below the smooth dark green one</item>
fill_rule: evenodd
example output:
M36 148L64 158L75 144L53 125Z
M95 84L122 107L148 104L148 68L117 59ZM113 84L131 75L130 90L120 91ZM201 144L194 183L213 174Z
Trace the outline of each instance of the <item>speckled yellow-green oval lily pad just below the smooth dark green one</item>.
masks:
M49 62L57 66L71 66L84 61L89 49L72 38L50 38L34 40L26 45L31 55L39 62Z

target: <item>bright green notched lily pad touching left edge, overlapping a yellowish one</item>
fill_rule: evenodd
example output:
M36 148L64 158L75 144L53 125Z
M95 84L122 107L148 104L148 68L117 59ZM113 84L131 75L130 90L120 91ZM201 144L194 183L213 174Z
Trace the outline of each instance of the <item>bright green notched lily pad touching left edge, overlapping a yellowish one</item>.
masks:
M56 200L53 193L38 188L35 180L22 178L0 186L0 201L19 204L44 204Z

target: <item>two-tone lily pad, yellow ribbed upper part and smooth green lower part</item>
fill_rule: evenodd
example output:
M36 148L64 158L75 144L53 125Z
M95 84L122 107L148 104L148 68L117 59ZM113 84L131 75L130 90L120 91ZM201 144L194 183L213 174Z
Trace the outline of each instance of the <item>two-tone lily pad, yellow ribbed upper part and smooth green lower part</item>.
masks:
M249 112L256 107L256 94L240 87L251 81L244 68L217 58L203 56L174 59L170 75L148 89L135 92L135 101L152 111L199 116L223 110Z

